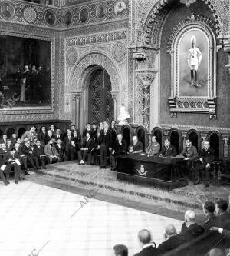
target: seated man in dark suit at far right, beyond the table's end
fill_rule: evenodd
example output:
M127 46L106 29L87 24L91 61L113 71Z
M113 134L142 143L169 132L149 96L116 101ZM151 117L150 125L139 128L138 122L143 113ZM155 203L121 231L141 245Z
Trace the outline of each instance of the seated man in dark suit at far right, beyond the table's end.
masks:
M204 148L202 149L201 157L199 158L199 166L195 170L194 184L199 184L201 181L200 174L205 171L205 187L209 187L210 170L212 161L215 159L215 152L210 147L209 141L205 141Z

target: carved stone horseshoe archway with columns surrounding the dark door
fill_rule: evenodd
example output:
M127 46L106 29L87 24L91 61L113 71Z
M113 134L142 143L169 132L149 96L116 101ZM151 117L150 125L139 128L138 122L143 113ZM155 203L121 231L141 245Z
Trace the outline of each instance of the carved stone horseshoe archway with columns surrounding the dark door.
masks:
M79 128L83 128L84 123L88 121L86 114L88 112L88 85L92 74L98 68L104 68L110 76L114 118L117 118L117 101L121 88L120 72L107 55L100 52L90 52L90 54L84 55L84 57L77 62L71 72L68 83L74 97L74 123L76 123Z

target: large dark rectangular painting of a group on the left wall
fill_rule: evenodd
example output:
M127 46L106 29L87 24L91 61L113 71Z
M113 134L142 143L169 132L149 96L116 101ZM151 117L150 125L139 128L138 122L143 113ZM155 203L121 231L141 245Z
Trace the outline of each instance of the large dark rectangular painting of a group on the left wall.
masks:
M0 112L51 108L53 48L54 41L0 35Z

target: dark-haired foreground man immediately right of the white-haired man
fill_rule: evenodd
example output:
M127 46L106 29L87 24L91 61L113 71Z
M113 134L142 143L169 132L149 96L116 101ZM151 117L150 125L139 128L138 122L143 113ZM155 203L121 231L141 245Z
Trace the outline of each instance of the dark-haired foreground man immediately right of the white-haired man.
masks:
M221 220L215 216L215 204L212 201L206 201L203 205L203 212L205 214L205 224L203 224L203 228L205 233L210 232L210 228L212 227L222 227Z

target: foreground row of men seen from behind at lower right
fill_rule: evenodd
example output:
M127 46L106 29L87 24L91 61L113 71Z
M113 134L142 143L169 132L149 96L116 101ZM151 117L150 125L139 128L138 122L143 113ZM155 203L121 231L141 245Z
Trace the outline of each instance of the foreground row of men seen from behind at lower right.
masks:
M229 197L230 201L230 197ZM202 254L206 256L229 256L230 255L230 212L228 211L228 201L225 199L218 199L214 204L212 201L206 201L202 205L205 215L205 222L198 224L196 222L195 211L187 210L185 213L184 223L181 230L177 233L173 224L168 224L163 229L163 236L165 241L156 247L156 243L153 241L153 236L148 229L143 229L138 233L138 240L141 251L134 256L159 256L169 253L170 251L178 248L182 244L189 244L193 239L198 239L202 236L202 248L206 248L207 251ZM204 239L205 234L210 235L208 239ZM209 244L211 236L218 238L215 244ZM198 239L199 240L199 239ZM192 244L192 243L191 243ZM197 244L197 243L196 243ZM195 248L196 244L192 244L192 254L189 255L201 255L195 254L199 251L199 248ZM201 243L200 243L201 244ZM215 246L213 246L215 245ZM213 248L212 248L213 246ZM116 244L113 247L115 256L128 256L128 247L124 244ZM182 255L179 251L172 255Z

